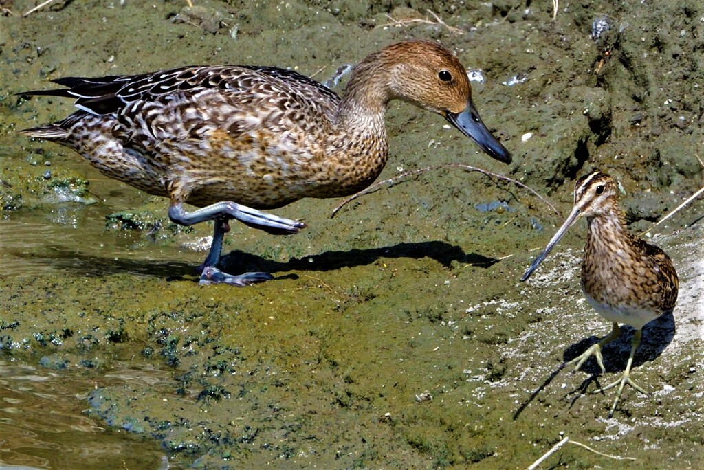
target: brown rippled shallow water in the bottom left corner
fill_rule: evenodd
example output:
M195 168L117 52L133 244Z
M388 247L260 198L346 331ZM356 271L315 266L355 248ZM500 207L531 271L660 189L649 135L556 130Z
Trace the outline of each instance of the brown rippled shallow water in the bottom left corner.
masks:
M117 364L116 364L117 365ZM151 440L107 428L85 414L94 374L0 360L0 469L178 469ZM162 371L117 365L103 383L163 381Z

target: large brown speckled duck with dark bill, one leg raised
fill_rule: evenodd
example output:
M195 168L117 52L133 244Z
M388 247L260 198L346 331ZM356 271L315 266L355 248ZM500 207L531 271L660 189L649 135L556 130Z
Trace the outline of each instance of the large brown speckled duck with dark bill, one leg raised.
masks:
M217 265L232 219L272 234L306 227L258 209L301 198L348 196L382 172L384 113L401 99L438 113L496 160L510 154L482 123L463 65L444 47L405 41L372 53L351 72L344 96L272 67L182 67L144 75L54 80L27 91L76 99L68 118L24 134L73 148L108 177L170 198L170 219L215 222L202 284L272 279ZM184 203L195 205L187 211Z

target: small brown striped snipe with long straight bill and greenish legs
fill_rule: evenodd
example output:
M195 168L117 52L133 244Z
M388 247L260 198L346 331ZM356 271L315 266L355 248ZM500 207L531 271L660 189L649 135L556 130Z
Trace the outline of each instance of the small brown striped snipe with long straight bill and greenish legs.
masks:
M603 345L618 337L619 323L636 329L626 370L620 379L596 390L603 392L619 386L609 417L613 416L626 385L647 395L646 390L631 380L641 330L651 320L672 312L679 291L672 260L657 246L629 234L616 194L616 183L607 174L592 172L579 179L574 188L572 212L521 279L528 279L567 229L582 216L586 217L588 231L582 260L582 291L594 310L613 326L611 334L567 364L576 364L576 371L594 355L601 371L605 372L601 356Z

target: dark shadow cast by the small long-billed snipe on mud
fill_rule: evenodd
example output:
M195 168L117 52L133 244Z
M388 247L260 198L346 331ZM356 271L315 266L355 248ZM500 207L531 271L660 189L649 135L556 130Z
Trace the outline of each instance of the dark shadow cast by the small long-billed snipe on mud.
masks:
M667 312L665 315L661 315L652 322L646 324L646 326L643 326L643 336L641 338L641 344L636 350L636 355L633 359L633 367L639 367L646 362L651 362L660 357L665 348L672 343L675 331L676 326L674 324L674 315L672 315L672 312ZM633 338L635 332L636 330L633 327L623 325L621 326L621 334L619 337L601 348L604 368L607 373L622 372L626 370L628 357L631 353L631 339ZM568 346L562 354L563 362L550 374L550 376L548 376L545 381L543 381L543 383L541 383L540 386L533 390L527 400L522 402L520 407L518 407L516 412L513 414L513 419L516 420L520 417L524 409L526 409L528 405L535 400L539 393L541 393L541 391L544 390L555 379L555 377L558 376L558 374L560 374L562 369L566 368L565 365L567 362L570 362L575 357L582 354L582 352L589 349L591 345L598 343L599 341L601 341L601 338L589 336L589 338L584 338L577 341L577 343L573 343ZM571 374L573 368L574 366L567 367L567 373ZM570 407L574 405L579 396L586 393L586 390L589 388L589 384L591 382L596 382L598 384L598 378L601 375L601 368L596 362L596 357L589 357L589 360L582 364L582 367L580 367L577 373L579 372L589 374L589 377L584 379L584 381L582 381L582 383L580 383L575 390L568 393L568 395L576 393L575 398L570 403Z

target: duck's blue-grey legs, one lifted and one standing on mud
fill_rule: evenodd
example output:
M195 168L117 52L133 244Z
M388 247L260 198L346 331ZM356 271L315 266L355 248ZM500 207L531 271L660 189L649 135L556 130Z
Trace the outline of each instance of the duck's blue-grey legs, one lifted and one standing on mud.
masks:
M222 250L222 239L225 232L230 230L228 220L236 219L255 229L268 231L270 234L295 234L298 230L306 227L303 222L284 219L277 215L267 214L256 209L248 208L229 201L215 203L204 208L187 212L181 203L172 203L169 208L169 218L172 222L181 225L193 225L206 220L215 222L213 231L213 243L210 243L210 251L206 260L201 265L201 284L231 284L232 286L249 286L257 282L269 281L273 279L268 272L246 272L234 276L218 269L220 262L220 252Z

